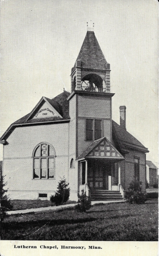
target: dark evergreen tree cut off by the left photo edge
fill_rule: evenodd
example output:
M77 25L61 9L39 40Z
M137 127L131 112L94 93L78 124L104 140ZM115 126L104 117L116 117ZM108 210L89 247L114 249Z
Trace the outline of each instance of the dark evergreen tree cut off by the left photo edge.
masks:
M4 177L0 177L0 220L3 221L6 217L6 212L9 210L12 210L13 205L10 202L10 199L5 194L8 189L4 189L4 186L6 186L7 182L4 182Z

